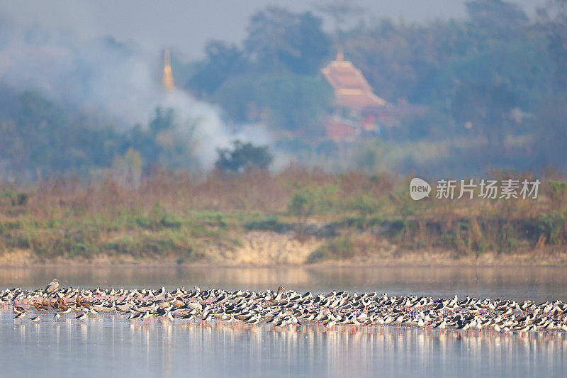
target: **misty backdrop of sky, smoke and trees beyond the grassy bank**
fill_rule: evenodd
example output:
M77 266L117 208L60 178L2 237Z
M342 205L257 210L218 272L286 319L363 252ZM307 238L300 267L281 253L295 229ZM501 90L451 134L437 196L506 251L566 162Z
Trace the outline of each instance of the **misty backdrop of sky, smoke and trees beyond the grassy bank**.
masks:
M200 172L237 156L461 177L567 168L566 1L276 5L1 4L0 177ZM326 132L337 108L320 72L338 51L395 110L372 134Z

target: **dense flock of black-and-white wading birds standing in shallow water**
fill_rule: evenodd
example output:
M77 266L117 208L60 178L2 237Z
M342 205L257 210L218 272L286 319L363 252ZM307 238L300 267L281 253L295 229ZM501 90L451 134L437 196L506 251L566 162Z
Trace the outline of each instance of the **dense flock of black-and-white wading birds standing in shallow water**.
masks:
M79 321L100 313L118 313L129 321L215 322L233 325L270 323L274 328L309 326L325 329L347 327L415 326L419 328L454 328L490 330L490 333L529 334L541 331L567 331L567 305L561 301L476 299L459 301L426 296L388 296L376 291L350 294L298 294L279 287L277 291L193 290L164 287L151 289L77 289L60 288L53 279L45 289L6 289L0 293L0 305L12 305L15 319L27 313L31 321L51 314L56 320L74 316Z

